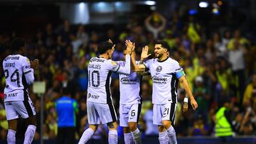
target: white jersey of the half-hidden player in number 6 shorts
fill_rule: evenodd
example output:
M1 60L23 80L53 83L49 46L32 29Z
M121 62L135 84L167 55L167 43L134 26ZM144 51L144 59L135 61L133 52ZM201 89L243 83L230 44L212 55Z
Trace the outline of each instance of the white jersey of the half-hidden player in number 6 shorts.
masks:
M124 67L125 62L119 61L117 64ZM119 74L120 104L141 104L141 81L142 76L136 72Z

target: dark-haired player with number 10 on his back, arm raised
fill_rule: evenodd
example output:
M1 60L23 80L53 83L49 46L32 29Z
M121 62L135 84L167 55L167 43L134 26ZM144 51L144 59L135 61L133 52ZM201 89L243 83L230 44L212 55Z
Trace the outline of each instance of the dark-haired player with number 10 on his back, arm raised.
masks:
M120 67L117 62L111 60L114 52L114 44L104 41L98 45L99 57L90 59L88 69L88 89L87 89L87 116L90 124L89 128L82 133L79 144L84 144L97 131L100 123L109 128L108 141L110 144L117 143L117 114L112 104L110 93L111 73L117 72L130 74L130 55L132 49L127 47L125 65Z

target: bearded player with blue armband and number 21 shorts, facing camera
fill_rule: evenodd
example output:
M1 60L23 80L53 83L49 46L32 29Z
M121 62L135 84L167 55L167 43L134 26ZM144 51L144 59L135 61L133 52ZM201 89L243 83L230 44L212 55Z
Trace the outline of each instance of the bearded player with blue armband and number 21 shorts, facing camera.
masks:
M196 110L198 104L193 97L191 89L188 87L182 67L179 66L176 60L169 57L169 45L164 41L158 40L154 48L156 58L147 60L144 65L135 65L134 62L132 62L132 65L134 65L135 71L144 71L148 68L151 73L153 80L152 100L154 104L153 123L159 126L159 142L169 143L170 140L171 143L177 143L176 133L171 124L174 124L176 113L178 82L181 82L186 90L194 110ZM146 46L142 50L141 59L145 60L148 56L148 47ZM184 102L187 103L188 98L185 98ZM187 104L183 106L183 109L185 111L188 109ZM169 138L167 138L166 134Z

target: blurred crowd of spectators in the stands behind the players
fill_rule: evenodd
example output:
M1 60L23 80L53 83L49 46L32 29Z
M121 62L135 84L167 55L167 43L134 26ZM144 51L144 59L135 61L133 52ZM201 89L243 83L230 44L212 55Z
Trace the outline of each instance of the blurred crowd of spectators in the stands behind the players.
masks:
M10 52L11 40L23 33L16 34L14 31L0 34L1 62ZM43 94L43 138L56 138L58 115L55 111L55 100L62 96L62 87L70 87L71 96L78 101L76 138L80 138L87 128L87 64L90 57L97 55L97 44L108 39L116 44L113 60L122 60L126 39L136 44L137 60L144 45L149 45L149 53L154 57L154 40L161 39L169 43L170 57L178 60L183 67L198 102L196 111L182 113L181 106L186 92L182 87L178 89L174 126L178 136L213 135L212 116L226 97L231 99L230 119L236 135L255 135L256 47L246 34L239 28L209 28L193 16L184 16L178 11L170 17L162 16L156 11L146 18L134 16L126 26L114 25L107 28L107 31L87 29L87 26L82 25L71 26L68 20L60 23L60 26L46 24L45 29L40 29L26 38L26 56L30 60L37 58L40 62L39 69L34 73L36 81L46 82L46 93ZM5 79L2 67L0 70L0 139L5 140L8 128L4 111ZM152 123L151 85L150 77L145 76L142 82L143 104L139 119L139 129L145 137L158 135L157 126ZM112 74L111 88L118 113L118 74ZM33 93L32 87L29 94L38 113L35 139L39 139L40 96ZM121 129L119 128L120 136ZM17 137L22 138L24 131L26 126L21 120ZM106 133L107 127L101 126L93 138L106 140Z

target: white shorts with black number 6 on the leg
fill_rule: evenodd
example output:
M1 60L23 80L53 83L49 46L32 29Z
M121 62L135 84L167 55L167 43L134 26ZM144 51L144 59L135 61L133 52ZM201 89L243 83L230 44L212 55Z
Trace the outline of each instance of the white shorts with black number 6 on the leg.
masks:
M139 122L142 104L121 104L119 107L120 126L128 127L129 122Z

